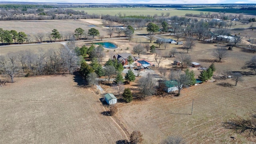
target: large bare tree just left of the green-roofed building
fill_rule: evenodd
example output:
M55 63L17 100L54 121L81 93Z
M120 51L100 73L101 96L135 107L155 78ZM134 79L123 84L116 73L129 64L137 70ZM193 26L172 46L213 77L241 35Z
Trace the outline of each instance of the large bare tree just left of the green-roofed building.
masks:
M142 77L139 79L138 82L138 88L140 90L140 93L146 97L146 96L152 96L156 92L156 83L154 78L151 74L147 74L146 77Z

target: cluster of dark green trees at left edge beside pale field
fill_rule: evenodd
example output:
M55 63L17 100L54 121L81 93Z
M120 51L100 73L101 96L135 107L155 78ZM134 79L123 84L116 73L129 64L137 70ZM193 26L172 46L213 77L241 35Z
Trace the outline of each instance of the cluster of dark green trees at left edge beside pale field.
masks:
M3 30L0 28L0 40L2 43L12 44L13 41L23 43L28 40L28 36L24 32L17 32L16 30Z

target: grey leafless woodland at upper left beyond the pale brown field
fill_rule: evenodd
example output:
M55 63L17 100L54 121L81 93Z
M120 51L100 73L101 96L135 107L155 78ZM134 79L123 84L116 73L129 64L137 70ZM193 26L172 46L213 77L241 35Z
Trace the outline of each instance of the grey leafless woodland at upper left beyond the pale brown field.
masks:
M100 18L98 14L88 14L79 10L58 8L45 5L11 5L0 8L0 20L54 20L54 19L85 19ZM63 7L63 6L62 6Z

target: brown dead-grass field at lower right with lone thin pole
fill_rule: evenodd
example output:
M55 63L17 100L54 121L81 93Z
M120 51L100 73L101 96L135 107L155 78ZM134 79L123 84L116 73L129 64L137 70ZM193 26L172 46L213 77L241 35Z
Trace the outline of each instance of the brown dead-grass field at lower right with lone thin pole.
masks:
M222 122L248 115L255 108L255 80L256 76L247 76L238 86L225 80L231 87L221 86L223 81L205 83L182 90L179 97L155 96L122 104L118 117L128 132L142 132L144 144L159 143L169 135L182 136L189 144L248 143L246 138L224 129ZM188 115L192 100L193 114Z

